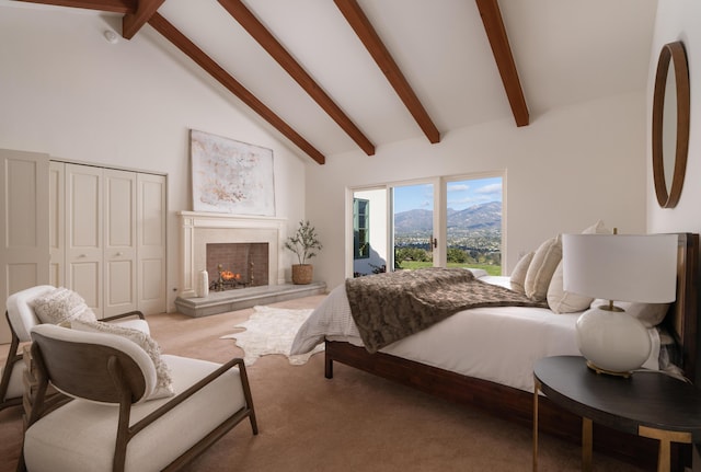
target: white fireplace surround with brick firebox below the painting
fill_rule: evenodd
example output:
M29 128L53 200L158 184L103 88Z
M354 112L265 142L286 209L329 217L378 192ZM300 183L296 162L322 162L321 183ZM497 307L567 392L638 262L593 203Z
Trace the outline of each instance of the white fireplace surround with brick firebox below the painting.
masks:
M285 284L281 241L287 230L286 220L194 211L181 211L180 217L183 251L181 297L197 295L197 278L202 269L207 269L210 283L218 280L219 264L222 270L239 274L242 280L250 280L252 275L255 286ZM215 254L225 251L226 254L220 253L225 255L214 256L221 257L221 261L210 261L210 247ZM233 258L223 260L225 256Z

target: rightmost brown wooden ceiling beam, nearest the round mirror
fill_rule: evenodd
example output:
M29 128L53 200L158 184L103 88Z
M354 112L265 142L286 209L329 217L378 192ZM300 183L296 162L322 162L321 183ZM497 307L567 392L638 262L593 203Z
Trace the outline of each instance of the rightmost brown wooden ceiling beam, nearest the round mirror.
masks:
M506 27L504 27L498 2L497 0L475 1L480 10L480 16L482 16L486 36L492 46L492 54L494 54L496 67L499 69L499 74L502 76L508 103L512 105L512 113L514 113L516 126L528 126L528 105L526 105L521 82L518 79L518 71L516 70L512 48L508 44Z

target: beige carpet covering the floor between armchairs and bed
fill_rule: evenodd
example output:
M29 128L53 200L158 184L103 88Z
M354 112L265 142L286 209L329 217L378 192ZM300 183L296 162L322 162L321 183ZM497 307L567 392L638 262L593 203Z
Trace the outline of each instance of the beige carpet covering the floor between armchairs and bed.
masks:
M274 306L313 308L322 298ZM223 361L242 353L232 339L219 337L251 313L158 314L149 323L163 352ZM7 346L0 356L5 354ZM239 425L188 471L531 470L529 428L343 365L326 380L323 354L303 366L291 366L280 355L263 356L249 376L261 433L253 436L250 424ZM0 412L0 472L14 470L20 435L19 408ZM594 462L596 471L641 470L596 453ZM541 471L578 471L579 448L541 435L539 464Z

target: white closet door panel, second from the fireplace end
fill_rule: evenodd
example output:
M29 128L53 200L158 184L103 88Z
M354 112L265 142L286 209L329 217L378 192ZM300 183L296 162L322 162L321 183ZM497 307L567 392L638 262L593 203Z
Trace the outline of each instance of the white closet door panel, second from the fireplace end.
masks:
M104 316L137 309L136 175L103 171Z

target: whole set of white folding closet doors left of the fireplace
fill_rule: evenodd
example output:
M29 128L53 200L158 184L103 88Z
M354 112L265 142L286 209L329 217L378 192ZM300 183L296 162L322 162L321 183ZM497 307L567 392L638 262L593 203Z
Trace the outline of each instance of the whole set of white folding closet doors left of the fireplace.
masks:
M51 228L62 225L66 237L62 245L51 246L57 261L62 247L65 269L51 276L64 274L61 285L80 293L97 318L131 310L164 312L166 177L60 162L51 170L54 165L57 173L64 169L65 205L57 204L55 211L51 207ZM54 193L58 200L58 184Z

